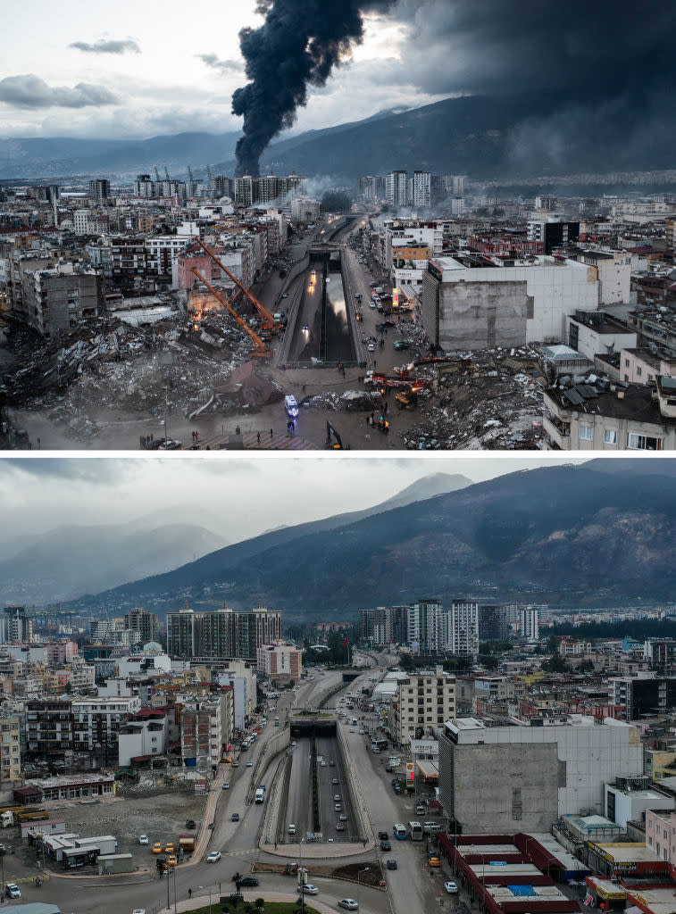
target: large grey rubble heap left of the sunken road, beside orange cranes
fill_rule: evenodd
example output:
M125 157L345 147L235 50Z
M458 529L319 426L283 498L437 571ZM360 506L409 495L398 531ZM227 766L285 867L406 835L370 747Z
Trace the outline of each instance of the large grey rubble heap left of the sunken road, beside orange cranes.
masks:
M199 407L249 357L250 343L218 315L209 326L166 321L133 326L113 317L58 341L14 335L17 370L3 381L8 402L48 409L70 436L100 430L102 410L127 416L169 415Z

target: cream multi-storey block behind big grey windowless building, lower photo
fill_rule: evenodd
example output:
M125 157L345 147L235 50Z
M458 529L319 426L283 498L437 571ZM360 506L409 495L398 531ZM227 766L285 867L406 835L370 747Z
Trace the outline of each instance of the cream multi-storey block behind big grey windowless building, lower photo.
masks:
M412 739L432 736L456 714L456 677L441 666L400 679L391 703L392 739L408 746Z

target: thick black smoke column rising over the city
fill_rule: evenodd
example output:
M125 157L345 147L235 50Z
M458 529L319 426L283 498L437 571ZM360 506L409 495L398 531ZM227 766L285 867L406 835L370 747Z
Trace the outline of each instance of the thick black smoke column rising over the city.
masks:
M394 0L261 0L260 28L242 28L241 54L250 82L232 95L244 116L236 175L258 175L273 137L290 127L307 102L308 86L323 86L331 70L364 35L363 14L385 12Z

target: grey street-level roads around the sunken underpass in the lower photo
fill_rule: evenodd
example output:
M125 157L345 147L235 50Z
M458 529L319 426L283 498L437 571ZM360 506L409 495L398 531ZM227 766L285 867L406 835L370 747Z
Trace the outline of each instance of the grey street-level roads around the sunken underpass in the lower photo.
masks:
M305 707L306 705L316 707L321 696L335 687L337 680L337 675L315 674L315 678L304 682L298 691L281 693L276 704L281 721L284 721L284 717L291 707ZM354 688L355 685L352 683L346 685L346 689L349 691ZM340 693L336 697L339 696ZM329 704L333 704L333 700ZM180 866L176 874L169 877L171 908L174 907L175 887L178 909L180 909L181 903L188 900L188 888L192 889L193 901L198 897L206 898L209 888L213 898L216 899L221 893L230 893L231 877L236 871L242 874L251 873L251 866L255 860L277 859L278 861L278 858L274 858L274 856L263 854L257 846L265 804L247 806L245 803L246 792L252 781L253 768L246 768L244 761L248 755L255 764L265 740L279 732L274 727L273 716L269 717L269 720L270 723L263 729L263 735L254 744L252 750L241 756L240 767L227 772L231 787L229 791L218 792L215 827L212 830L209 845L203 852L202 860L193 866ZM387 829L392 833L394 822L406 822L412 818L413 802L392 794L389 785L390 776L382 771L378 761L380 757L369 751L365 738L359 736L357 728L354 733L350 733L350 729L349 725L345 726L345 737L350 753L350 758L346 762L359 771L361 790L368 804L373 828L376 831L381 828ZM296 741L300 743L306 740ZM333 740L322 742L320 739L319 742L321 753L326 753L330 760ZM299 750L302 752L300 745L295 748L294 752L298 753ZM307 750L305 754L308 755ZM328 764L326 768L320 768L320 773L323 772L327 778L329 778L330 772L340 771L339 760L334 760L337 761L336 769ZM273 773L274 766L271 766L264 775L266 783L272 781ZM341 784L336 788L336 792L344 796L343 777L338 774L338 778ZM333 786L330 785L331 789ZM332 802L332 794L327 792L328 796L331 796ZM233 812L240 813L241 821L239 823L231 822ZM204 863L209 851L214 849L220 850L223 855L222 859L216 864ZM367 861L372 860L373 856L374 852L367 850L363 855L350 857L350 860L363 860L365 866L368 866ZM410 914L412 910L431 911L438 906L438 893L440 890L443 891L444 877L448 878L448 875L444 874L443 870L427 870L424 866L424 844L394 843L392 853L382 854L378 850L375 856L381 856L383 859L394 857L398 860L399 868L387 871L386 879L389 887L387 893L373 888L360 887L359 907L363 914ZM309 863L309 869L312 874L311 863ZM166 879L150 877L150 881L144 881L147 878L143 874L131 878L122 876L105 879L101 877L52 878L40 889L22 886L24 889L22 901L53 901L59 905L64 914L85 914L85 912L88 914L92 909L99 907L101 893L104 890L107 914L130 914L134 908L145 909L146 914L158 914L159 911L166 910ZM339 898L356 897L356 887L349 882L312 877L312 875L311 880L319 887L318 900L337 912L340 910L337 907ZM260 877L260 887L252 891L256 896L277 892L288 893L294 891L294 883L289 877L264 873ZM451 902L450 908L453 910L455 898L447 900Z

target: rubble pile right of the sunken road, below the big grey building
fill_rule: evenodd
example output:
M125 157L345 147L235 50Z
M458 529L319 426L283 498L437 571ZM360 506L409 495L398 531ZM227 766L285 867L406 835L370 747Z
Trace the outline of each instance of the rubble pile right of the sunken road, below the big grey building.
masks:
M467 360L467 364L463 362ZM420 421L403 436L413 450L533 450L542 447L544 376L530 347L458 355L436 369Z

